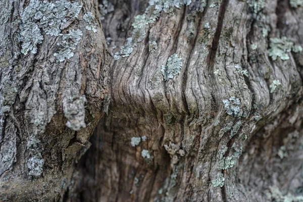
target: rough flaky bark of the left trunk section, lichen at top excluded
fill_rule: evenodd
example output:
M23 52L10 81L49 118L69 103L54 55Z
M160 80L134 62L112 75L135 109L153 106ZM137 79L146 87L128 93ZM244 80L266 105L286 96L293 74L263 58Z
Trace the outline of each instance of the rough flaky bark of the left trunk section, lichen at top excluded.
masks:
M68 35L51 36L40 29L43 41L36 54L25 56L20 53L24 41L19 27L26 22L20 16L31 3L0 2L1 201L66 200L75 164L104 114L109 91L107 45L100 23L95 20L94 33L85 29L82 19L87 12L98 17L97 2L79 1L79 5L77 18L67 18L60 30L67 34L79 29L82 36L72 50L74 56L60 62L54 54L63 50L60 44ZM58 9L63 13L70 6Z

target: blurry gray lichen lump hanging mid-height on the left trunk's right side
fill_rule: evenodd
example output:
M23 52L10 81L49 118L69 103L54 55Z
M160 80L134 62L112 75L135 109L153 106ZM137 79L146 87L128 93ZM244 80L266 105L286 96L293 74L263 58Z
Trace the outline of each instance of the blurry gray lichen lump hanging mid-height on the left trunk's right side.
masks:
M66 126L76 131L85 128L85 95L64 98L63 103L64 116L67 118Z

